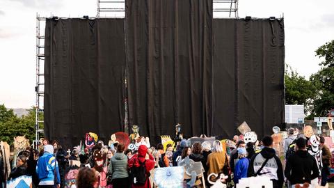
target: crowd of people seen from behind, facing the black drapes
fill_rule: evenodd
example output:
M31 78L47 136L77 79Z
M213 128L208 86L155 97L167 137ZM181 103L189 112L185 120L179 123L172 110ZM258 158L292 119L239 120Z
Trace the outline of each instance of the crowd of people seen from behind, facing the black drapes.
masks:
M137 150L129 150L122 143L113 147L97 143L91 150L82 151L74 148L68 154L57 141L49 144L43 141L42 150L26 148L17 156L17 164L9 175L9 180L21 175L31 175L33 187L68 187L66 180L68 168L77 162L77 173L73 178L78 188L86 187L154 187L152 173L154 169L183 165L186 159L200 162L204 169L205 185L209 180L216 181L221 173L228 175L225 182L237 186L241 178L267 176L273 187L301 187L313 183L326 185L329 174L330 150L324 145L324 138L319 136L322 163L310 155L310 139L294 130L288 130L289 136L283 140L284 158L280 159L273 146L272 136L264 136L260 143L245 143L239 136L234 136L235 147L223 147L221 141L204 141L189 144L182 139L173 147L159 143L148 148L141 145ZM283 166L284 169L283 169ZM66 176L66 177L65 177ZM193 185L184 180L187 187ZM228 186L229 187L229 186Z

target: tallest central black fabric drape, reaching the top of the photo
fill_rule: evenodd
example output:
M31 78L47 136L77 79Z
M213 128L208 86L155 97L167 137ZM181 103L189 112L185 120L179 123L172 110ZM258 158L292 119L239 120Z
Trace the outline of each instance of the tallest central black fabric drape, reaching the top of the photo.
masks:
M126 1L129 125L152 143L209 134L212 0Z

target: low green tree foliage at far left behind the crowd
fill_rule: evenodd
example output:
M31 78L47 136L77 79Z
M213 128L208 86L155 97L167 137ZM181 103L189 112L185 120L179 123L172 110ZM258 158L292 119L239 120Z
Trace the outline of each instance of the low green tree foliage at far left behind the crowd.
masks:
M35 139L35 107L29 109L26 116L17 117L13 110L0 105L0 139L9 144L13 143L15 136L26 135L30 143ZM42 118L42 117L41 117Z

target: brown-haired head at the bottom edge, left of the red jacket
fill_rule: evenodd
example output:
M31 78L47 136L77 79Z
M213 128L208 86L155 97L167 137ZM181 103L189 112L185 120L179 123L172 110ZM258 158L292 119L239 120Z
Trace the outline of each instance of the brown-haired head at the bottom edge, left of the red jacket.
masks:
M89 169L88 167L79 169L76 182L78 188L94 187L96 181L97 177L94 169Z

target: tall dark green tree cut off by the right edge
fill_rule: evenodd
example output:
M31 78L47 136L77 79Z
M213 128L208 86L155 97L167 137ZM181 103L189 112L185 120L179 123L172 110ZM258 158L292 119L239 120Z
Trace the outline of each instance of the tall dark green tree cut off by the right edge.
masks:
M327 116L328 111L334 109L334 40L326 42L315 53L319 58L324 58L324 61L319 63L321 70L310 77L317 88L312 113Z

